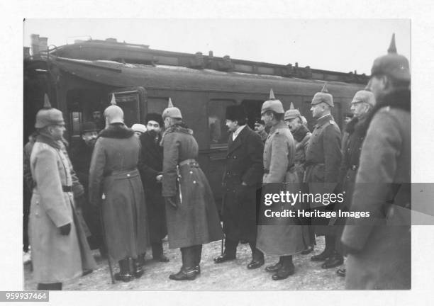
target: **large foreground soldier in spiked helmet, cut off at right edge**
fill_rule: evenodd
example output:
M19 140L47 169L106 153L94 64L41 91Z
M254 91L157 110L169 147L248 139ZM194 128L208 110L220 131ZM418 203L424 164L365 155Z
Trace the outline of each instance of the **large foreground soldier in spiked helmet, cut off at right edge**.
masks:
M347 289L411 289L411 91L408 60L396 52L374 60L377 101L360 154L351 210L369 212L344 228Z

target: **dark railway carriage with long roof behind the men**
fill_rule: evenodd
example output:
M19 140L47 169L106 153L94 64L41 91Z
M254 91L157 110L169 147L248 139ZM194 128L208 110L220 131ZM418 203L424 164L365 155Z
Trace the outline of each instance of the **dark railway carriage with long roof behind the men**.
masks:
M161 55L161 60L157 58L155 50L152 57L140 53L143 58L152 59L148 62L142 57L133 61L125 54L118 53L113 58L104 53L104 58L96 60L96 55L77 55L79 48L77 45L73 47L75 53L57 48L25 59L25 139L33 132L35 113L43 106L45 93L52 105L64 113L67 138L72 144L79 139L79 124L91 120L92 111L104 111L109 105L111 94L116 97L118 106L123 108L125 123L129 127L134 123L143 123L147 113L162 113L168 99L172 98L174 106L182 111L187 125L194 130L199 143L199 164L208 177L217 201L221 199L221 179L228 142L226 106L244 106L248 124L252 127L255 118L260 117L262 103L269 98L269 91L273 89L284 108L288 109L293 103L306 116L312 129L315 123L309 111L311 99L326 80L335 103L333 116L342 128L343 114L349 111L352 97L365 87L367 81L367 77L357 82L348 82L347 79L340 81L339 72L321 72L323 79L313 79L315 74L320 75L320 71L307 68L310 77L306 77L306 74L297 77L297 74L280 73L288 71L287 65L282 67L240 60L228 62L224 57L200 57L199 62L202 60L202 64L198 65L197 61L191 59L186 62L187 55L181 54L178 62L165 62L167 52ZM171 56L175 58L174 54ZM198 59L197 55L188 56ZM249 65L252 69L248 69ZM290 68L296 71L296 67ZM278 73L273 73L276 71ZM327 75L332 77L327 79Z

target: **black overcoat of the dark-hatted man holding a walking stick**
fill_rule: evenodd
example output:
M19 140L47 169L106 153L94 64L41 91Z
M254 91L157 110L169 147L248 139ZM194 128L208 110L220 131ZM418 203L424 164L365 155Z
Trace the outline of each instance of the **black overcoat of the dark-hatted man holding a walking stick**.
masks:
M229 135L226 169L223 175L223 232L226 238L255 242L256 191L262 182L260 135L246 125L232 140ZM247 186L243 186L242 183Z

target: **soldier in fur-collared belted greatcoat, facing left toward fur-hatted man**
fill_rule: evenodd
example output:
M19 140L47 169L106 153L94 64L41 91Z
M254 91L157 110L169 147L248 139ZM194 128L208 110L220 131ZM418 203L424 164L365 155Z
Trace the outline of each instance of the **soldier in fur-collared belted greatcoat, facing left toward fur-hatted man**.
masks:
M166 202L169 248L181 249L182 268L172 280L193 280L201 273L202 244L221 240L223 233L213 193L204 172L196 162L199 146L193 131L182 121L179 108L162 113L162 196Z

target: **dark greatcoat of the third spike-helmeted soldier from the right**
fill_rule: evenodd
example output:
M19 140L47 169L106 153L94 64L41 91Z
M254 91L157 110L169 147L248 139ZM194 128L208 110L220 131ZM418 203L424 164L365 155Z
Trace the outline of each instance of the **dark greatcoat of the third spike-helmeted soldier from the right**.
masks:
M306 173L304 181L308 183L309 193L333 193L338 186L341 135L332 115L325 115L316 122L306 152ZM333 210L334 205L311 203L311 209ZM337 234L337 228L328 226L331 220L313 217L312 224L316 235ZM332 222L333 223L333 222ZM333 224L330 224L333 225Z

